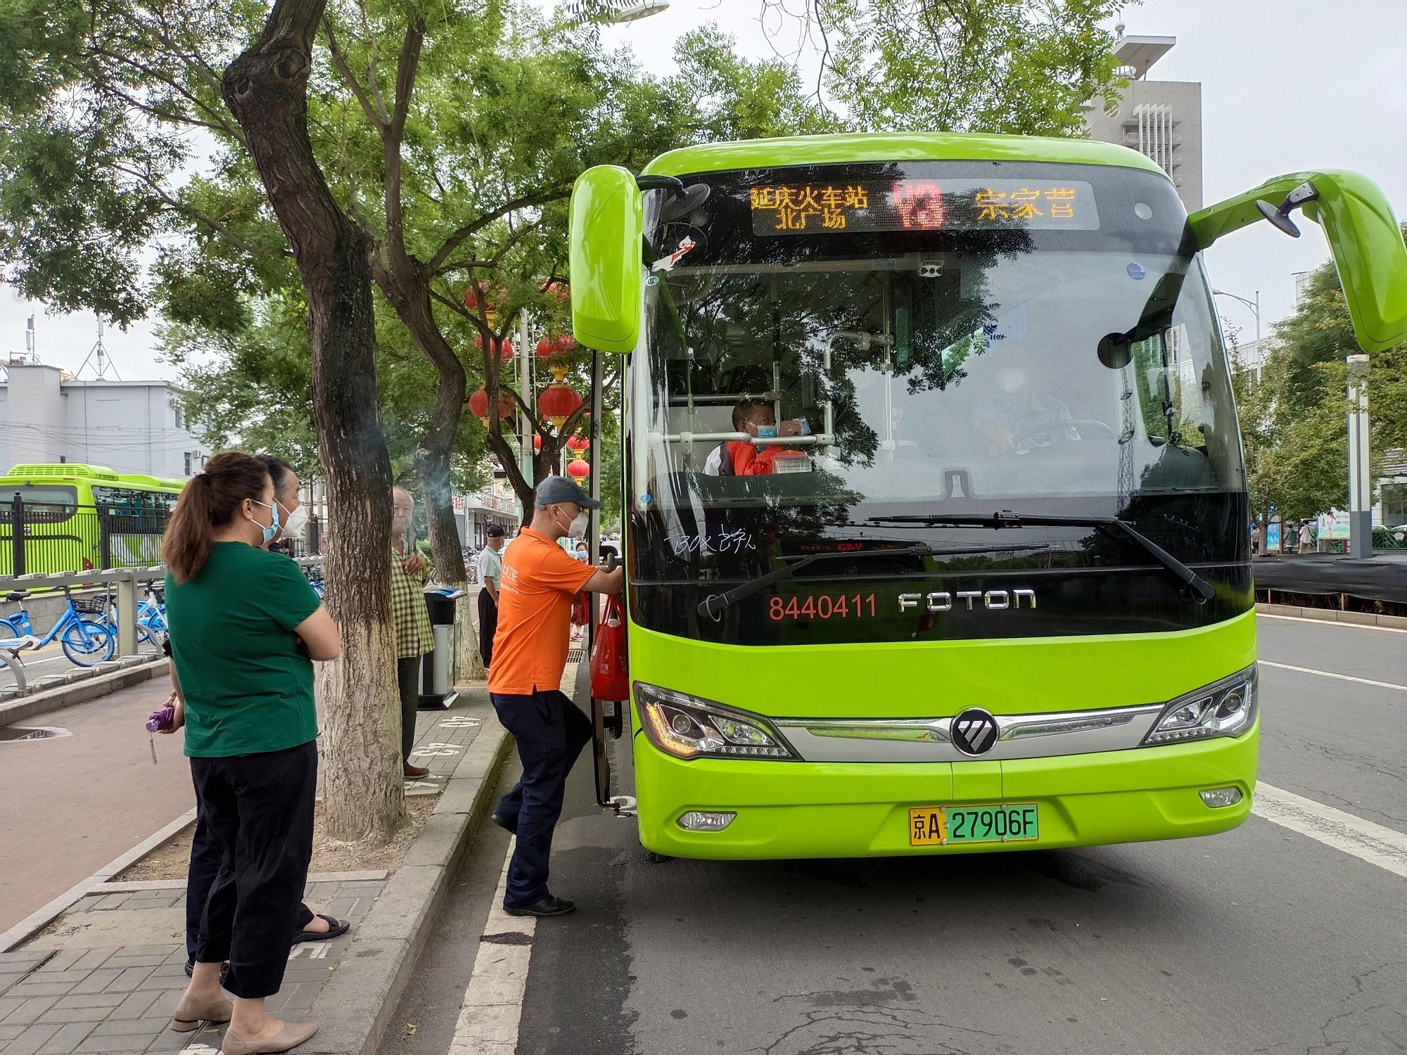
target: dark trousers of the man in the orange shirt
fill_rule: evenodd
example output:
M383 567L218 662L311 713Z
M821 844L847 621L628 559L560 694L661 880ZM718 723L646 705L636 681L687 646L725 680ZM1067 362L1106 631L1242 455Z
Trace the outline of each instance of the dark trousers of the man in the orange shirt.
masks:
M591 719L563 692L530 696L490 695L504 729L518 741L523 775L494 810L518 819L518 845L508 865L504 904L532 904L547 895L552 834L561 816L561 799L581 748L591 741Z

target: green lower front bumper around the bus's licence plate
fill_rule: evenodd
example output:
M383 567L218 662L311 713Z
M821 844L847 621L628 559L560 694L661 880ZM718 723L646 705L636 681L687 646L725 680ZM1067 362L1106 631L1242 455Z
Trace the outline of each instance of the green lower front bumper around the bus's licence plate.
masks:
M668 857L891 857L1142 843L1210 836L1251 812L1261 724L1244 736L1005 762L682 761L635 737L640 843ZM1234 806L1199 795L1237 788ZM909 807L1036 803L1040 838L910 847ZM736 812L722 831L688 831L689 810Z

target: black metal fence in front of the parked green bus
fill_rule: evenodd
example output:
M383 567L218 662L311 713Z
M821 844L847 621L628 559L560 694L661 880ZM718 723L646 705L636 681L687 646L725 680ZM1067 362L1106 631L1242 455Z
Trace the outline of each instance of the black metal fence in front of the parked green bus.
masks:
M165 509L0 501L0 575L151 567L160 561Z

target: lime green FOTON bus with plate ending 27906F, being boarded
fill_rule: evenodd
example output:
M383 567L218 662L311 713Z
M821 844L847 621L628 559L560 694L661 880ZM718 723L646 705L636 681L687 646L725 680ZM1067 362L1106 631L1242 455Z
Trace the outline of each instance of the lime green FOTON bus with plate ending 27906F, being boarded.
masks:
M1074 139L788 138L585 172L573 326L626 362L644 847L943 854L1245 820L1249 513L1202 250L1261 219L1297 236L1296 210L1362 346L1407 338L1403 235L1354 173L1189 217L1152 160ZM605 799L622 715L592 709Z

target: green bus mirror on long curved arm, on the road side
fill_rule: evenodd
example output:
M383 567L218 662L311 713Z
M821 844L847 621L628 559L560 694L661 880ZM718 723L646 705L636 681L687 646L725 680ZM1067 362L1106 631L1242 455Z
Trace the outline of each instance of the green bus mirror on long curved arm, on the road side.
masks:
M1382 352L1403 343L1407 340L1407 245L1392 205L1366 176L1330 169L1266 180L1255 190L1188 217L1197 248L1206 249L1223 235L1262 219L1263 210L1256 204L1261 198L1286 200L1306 183L1318 197L1296 204L1324 228L1359 346L1365 352Z

